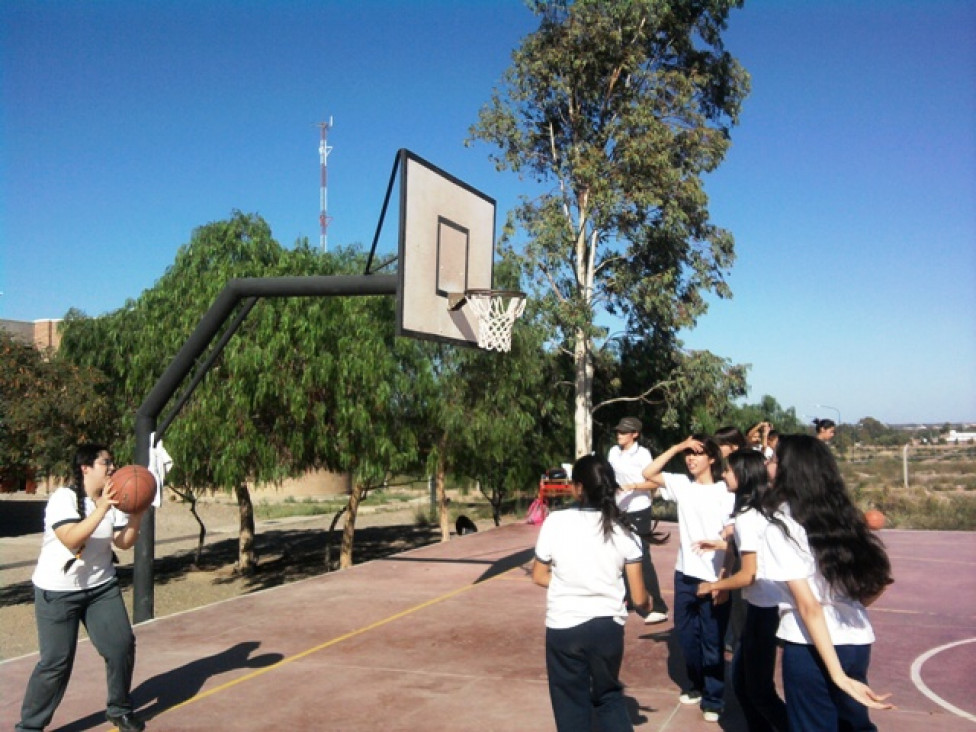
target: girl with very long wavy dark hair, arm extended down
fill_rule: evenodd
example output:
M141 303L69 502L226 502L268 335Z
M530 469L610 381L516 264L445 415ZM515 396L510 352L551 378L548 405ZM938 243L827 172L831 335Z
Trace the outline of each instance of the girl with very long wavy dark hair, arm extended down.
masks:
M781 590L778 637L790 730L876 730L867 707L890 708L867 685L874 630L866 606L891 582L884 544L868 529L827 445L784 435L776 447L762 555Z

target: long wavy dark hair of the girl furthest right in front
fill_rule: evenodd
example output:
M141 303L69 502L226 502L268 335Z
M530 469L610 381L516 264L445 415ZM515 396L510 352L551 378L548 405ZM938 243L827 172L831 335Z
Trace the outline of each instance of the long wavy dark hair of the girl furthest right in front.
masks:
M789 506L831 589L863 602L894 582L884 544L851 500L830 448L810 435L784 435L776 462L763 504L768 510Z

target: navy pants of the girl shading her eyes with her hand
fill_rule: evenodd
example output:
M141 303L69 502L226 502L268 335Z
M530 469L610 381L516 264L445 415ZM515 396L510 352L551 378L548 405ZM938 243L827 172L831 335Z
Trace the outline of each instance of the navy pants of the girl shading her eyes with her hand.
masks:
M703 580L674 573L674 628L685 657L691 687L702 695L701 708L721 712L725 707L725 631L729 603L716 605L712 598L698 597Z

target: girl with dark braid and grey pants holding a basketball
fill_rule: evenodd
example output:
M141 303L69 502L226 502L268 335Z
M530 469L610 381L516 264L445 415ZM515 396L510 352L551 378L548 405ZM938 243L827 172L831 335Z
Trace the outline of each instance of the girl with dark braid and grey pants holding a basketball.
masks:
M107 447L81 445L72 462L74 484L48 499L41 554L31 578L40 660L27 684L18 730L42 730L54 717L71 676L79 623L105 659L106 718L123 732L145 729L129 696L135 636L112 550L135 544L142 514L127 516L115 508L114 470Z

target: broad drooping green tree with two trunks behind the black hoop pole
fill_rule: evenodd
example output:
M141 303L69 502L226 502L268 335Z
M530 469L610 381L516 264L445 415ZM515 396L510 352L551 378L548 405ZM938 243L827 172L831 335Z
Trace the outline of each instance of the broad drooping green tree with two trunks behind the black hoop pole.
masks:
M104 318L69 319L62 348L106 371L134 415L232 278L350 274L362 265L344 250L322 256L300 243L286 251L260 217L235 213L197 229L138 300ZM416 461L416 441L399 426L419 361L393 343L393 322L391 298L260 301L167 431L169 480L237 496L242 572L256 563L248 484L311 468L349 471L355 499ZM124 426L131 435L131 418ZM344 539L350 562L354 509L348 547Z

